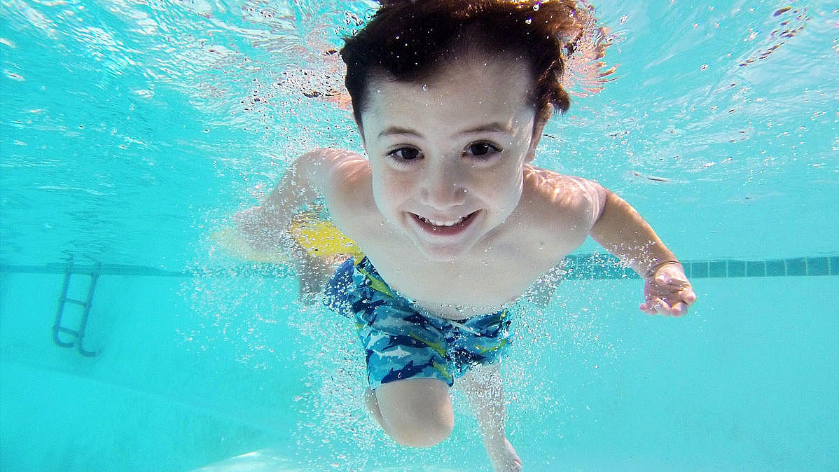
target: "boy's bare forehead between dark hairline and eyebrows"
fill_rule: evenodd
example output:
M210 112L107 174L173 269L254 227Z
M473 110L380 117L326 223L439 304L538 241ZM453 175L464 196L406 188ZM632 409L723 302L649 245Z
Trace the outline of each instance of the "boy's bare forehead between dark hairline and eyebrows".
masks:
M451 127L452 122L467 126L514 120L533 112L533 82L524 60L487 54L455 56L425 79L373 77L362 119L365 128L394 122Z

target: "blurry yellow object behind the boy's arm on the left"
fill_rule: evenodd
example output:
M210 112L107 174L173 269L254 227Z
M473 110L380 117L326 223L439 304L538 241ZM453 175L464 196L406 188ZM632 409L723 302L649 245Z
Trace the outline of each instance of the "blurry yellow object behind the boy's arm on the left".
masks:
M303 212L291 221L289 234L312 257L360 257L362 252L355 241L338 231L330 220L324 220L315 212ZM253 262L289 262L288 254L258 251L249 246L237 234L236 228L223 228L211 233L211 238L221 246L221 250L232 257Z

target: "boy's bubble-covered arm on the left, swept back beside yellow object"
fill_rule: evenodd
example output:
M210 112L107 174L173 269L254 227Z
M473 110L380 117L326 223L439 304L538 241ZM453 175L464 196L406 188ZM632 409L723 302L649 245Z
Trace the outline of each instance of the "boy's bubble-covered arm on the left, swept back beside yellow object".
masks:
M303 154L291 164L261 205L233 215L239 235L248 246L259 251L283 248L286 252L297 252L286 231L294 215L324 195L332 179L340 179L336 173L341 163L357 158L356 153L329 148Z

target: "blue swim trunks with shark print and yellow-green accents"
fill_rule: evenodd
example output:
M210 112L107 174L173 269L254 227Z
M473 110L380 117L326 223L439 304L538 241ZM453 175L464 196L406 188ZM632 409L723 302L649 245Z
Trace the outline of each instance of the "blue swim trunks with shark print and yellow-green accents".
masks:
M462 322L420 314L388 287L367 257L338 267L324 301L356 320L373 390L410 378L439 379L451 386L472 366L500 362L510 344L508 309Z

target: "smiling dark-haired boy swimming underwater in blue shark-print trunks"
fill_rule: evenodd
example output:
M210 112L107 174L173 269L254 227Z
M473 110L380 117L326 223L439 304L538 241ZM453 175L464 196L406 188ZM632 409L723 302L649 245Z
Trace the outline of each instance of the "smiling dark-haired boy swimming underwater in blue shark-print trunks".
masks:
M644 278L644 312L681 315L696 299L626 202L529 164L552 108L569 106L558 79L584 15L570 0L384 3L341 50L367 158L306 153L237 218L252 246L293 247L289 222L322 198L357 242L327 300L357 320L367 407L400 444L451 433L456 380L493 467L520 469L498 373L508 308L586 236Z

